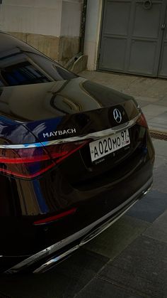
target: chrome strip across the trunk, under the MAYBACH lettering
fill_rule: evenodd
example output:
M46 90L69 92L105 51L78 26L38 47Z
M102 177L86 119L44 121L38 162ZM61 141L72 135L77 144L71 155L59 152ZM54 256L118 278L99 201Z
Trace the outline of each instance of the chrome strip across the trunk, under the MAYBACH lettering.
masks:
M120 124L117 127L109 128L101 130L100 132L92 132L91 134L84 134L78 137L69 137L65 139L55 139L53 141L47 142L38 142L38 143L28 143L28 144L0 144L0 149L23 149L23 148L36 148L36 147L43 147L43 146L50 146L55 144L63 144L67 142L76 142L76 141L83 141L84 139L99 139L100 137L107 137L110 134L116 134L117 132L121 132L122 129L127 129L132 127L141 113L139 113L136 117L131 119L130 121Z

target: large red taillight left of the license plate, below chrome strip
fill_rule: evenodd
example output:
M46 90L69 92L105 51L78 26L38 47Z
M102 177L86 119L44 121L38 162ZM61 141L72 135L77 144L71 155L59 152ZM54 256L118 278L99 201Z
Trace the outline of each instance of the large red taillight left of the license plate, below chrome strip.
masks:
M0 148L0 172L18 178L32 179L59 164L81 149L88 141L68 142L43 147L6 145Z

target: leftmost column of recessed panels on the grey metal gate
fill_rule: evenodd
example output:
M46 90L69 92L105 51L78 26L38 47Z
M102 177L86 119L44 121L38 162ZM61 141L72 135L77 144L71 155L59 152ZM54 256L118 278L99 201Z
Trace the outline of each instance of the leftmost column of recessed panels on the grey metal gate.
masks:
M121 72L125 68L131 1L105 0L100 69Z

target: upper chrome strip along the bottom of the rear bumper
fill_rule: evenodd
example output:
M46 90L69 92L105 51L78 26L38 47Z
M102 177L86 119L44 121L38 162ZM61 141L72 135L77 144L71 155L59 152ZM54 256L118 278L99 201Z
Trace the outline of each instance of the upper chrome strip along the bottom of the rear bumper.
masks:
M64 238L63 240L59 241L58 243L55 243L51 245L48 248L45 248L44 250L41 250L40 252L37 252L35 255L32 255L28 257L27 259L23 260L22 262L19 262L17 265L11 267L10 269L6 270L6 273L15 273L22 270L24 267L28 267L32 265L34 262L37 262L38 260L41 260L42 257L46 257L48 255L51 255L53 252L57 252L57 250L60 250L61 248L64 248L64 246L69 245L73 241L77 240L78 238L83 237L86 235L89 231L91 231L93 228L96 227L96 225L100 224L104 220L107 220L110 218L111 215L114 213L117 213L117 211L120 211L124 206L126 206L130 201L133 201L134 198L141 196L147 191L148 188L150 188L151 183L153 181L153 178L151 177L149 181L147 181L142 188L140 188L136 193L134 193L130 198L127 199L124 203L122 203L117 208L110 211L110 213L105 214L102 218L99 218L94 223L91 223L91 225L88 225L86 228L79 230L79 232L74 233L73 235L70 235L67 238ZM124 212L124 211L123 211ZM118 215L119 216L119 215Z

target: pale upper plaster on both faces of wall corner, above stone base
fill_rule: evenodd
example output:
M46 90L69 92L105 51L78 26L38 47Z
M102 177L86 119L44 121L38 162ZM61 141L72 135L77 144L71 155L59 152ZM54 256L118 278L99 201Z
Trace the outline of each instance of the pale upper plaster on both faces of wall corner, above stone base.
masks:
M46 36L79 36L82 0L3 0L0 29Z

